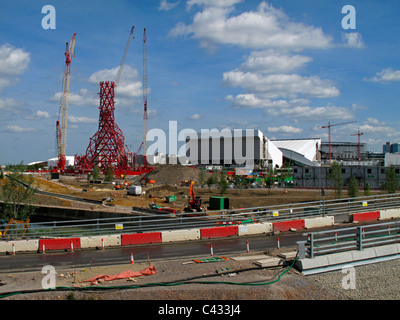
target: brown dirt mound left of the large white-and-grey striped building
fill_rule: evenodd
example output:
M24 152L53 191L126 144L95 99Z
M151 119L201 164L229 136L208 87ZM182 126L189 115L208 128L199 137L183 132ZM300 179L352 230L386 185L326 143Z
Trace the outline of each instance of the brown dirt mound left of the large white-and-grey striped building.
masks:
M157 167L147 174L147 178L155 180L156 184L170 184L180 186L185 180L199 181L200 170L193 167L185 167L181 165L164 165ZM205 179L211 175L204 173Z

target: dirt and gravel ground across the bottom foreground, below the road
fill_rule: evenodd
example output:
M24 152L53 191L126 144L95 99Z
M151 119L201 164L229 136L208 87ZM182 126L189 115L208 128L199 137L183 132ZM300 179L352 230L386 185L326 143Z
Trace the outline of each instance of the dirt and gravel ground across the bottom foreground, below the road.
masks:
M274 256L274 254L269 253ZM135 279L120 279L91 285L85 280L101 274L139 271L147 263L93 266L82 270L56 270L56 286L64 290L39 291L4 297L3 300L398 300L400 298L400 259L355 268L355 288L344 289L347 274L341 271L305 276L295 270L259 268L254 259L211 263L190 260L155 261L157 273ZM226 273L217 270L229 268ZM248 270L251 269L251 270ZM74 275L76 271L76 275ZM0 274L0 295L6 292L41 289L40 271ZM213 281L222 283L185 283ZM178 282L173 286L148 283ZM119 287L118 289L115 287ZM108 287L109 290L99 290ZM112 288L112 290L110 290Z

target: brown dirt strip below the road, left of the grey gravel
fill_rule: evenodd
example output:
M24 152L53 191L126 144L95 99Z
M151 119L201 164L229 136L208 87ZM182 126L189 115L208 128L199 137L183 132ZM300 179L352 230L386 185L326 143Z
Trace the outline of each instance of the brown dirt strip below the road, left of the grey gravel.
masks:
M120 279L91 284L88 279L113 275L126 270L139 271L146 262L86 268L56 270L56 286L63 291L18 294L6 300L335 300L347 299L334 291L319 287L311 278L289 267L263 269L244 261L190 263L191 260L156 261L157 273L134 279ZM230 268L224 274L217 270ZM251 269L251 270L247 270ZM74 275L76 271L76 275ZM281 276L281 277L280 277ZM1 292L41 289L44 275L38 272L0 274ZM189 280L191 279L191 280ZM184 283L184 282L192 283ZM196 283L201 281L204 283ZM205 282L207 281L207 282ZM174 282L171 284L171 282ZM211 283L212 282L212 283ZM146 285L147 284L147 285ZM163 285L164 284L164 285ZM166 285L168 284L168 285ZM126 287L131 286L131 287ZM135 287L137 286L137 287ZM142 287L140 287L142 286ZM99 290L99 287L117 290ZM117 288L118 287L118 288ZM68 289L69 288L69 289Z

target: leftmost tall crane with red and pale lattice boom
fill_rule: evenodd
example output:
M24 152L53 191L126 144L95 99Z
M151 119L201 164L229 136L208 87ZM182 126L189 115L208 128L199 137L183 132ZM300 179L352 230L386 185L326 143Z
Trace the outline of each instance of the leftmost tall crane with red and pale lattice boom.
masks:
M58 162L57 167L60 171L65 169L66 163L66 146L67 146L67 123L68 123L68 100L69 100L69 82L71 75L71 61L74 57L74 49L76 42L76 33L72 36L70 43L66 43L65 48L65 68L64 68L64 81L62 89L62 97L60 109L58 112L58 120L56 122L56 138L57 138L57 153ZM60 124L61 116L61 124Z

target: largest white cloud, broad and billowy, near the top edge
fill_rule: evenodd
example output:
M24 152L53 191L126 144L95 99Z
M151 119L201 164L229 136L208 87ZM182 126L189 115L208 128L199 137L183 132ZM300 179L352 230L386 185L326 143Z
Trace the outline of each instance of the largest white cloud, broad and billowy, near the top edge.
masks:
M213 3L211 5L211 2ZM215 49L220 44L237 45L249 49L304 49L329 48L332 38L321 28L292 22L280 9L261 2L256 11L233 16L233 4L237 1L190 1L205 5L203 11L194 15L191 24L179 22L169 35L190 36L200 45ZM223 5L222 5L223 4Z

